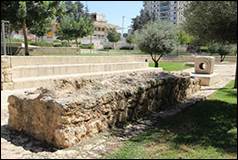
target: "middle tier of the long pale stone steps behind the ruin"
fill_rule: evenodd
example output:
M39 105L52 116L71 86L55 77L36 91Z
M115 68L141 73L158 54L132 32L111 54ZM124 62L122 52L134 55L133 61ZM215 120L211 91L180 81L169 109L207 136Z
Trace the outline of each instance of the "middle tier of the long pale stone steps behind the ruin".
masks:
M108 72L108 71L146 68L147 66L148 64L146 62L25 65L13 67L12 78L14 80L16 78L25 78L25 77Z

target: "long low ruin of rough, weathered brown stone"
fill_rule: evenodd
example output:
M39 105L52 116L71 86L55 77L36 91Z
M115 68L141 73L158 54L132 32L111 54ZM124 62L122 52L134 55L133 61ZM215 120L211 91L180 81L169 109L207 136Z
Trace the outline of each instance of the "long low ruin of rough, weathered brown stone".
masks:
M50 88L11 95L9 127L58 148L181 103L200 89L189 75L127 73L60 80Z

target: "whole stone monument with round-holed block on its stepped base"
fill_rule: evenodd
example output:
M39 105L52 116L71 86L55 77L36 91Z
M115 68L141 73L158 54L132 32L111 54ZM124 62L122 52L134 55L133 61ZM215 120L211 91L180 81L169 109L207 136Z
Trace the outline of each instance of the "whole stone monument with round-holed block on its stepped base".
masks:
M209 86L217 82L217 74L214 73L215 58L211 56L197 56L195 58L195 73L192 77L200 80L200 85Z

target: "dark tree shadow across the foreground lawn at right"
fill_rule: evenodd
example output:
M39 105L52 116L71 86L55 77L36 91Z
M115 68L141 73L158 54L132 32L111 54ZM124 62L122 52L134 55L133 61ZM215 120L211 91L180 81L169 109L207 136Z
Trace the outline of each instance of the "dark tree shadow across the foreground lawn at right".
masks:
M167 119L154 122L154 128L130 139L132 142L170 141L175 144L213 146L236 153L237 105L206 100Z

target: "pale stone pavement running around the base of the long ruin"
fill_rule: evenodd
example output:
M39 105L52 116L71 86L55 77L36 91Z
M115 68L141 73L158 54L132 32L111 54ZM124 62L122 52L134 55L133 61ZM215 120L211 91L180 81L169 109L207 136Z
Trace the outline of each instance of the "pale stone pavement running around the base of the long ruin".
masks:
M202 87L201 91L197 92L194 97L206 97L217 89L224 87L230 80L235 78L235 67L235 64L215 65L215 72L220 75L219 82L210 87ZM186 69L185 71L193 72L193 68ZM4 95L7 96L8 94L5 93ZM4 95L1 95L1 97ZM193 104L193 102L188 102L183 108L191 106L191 104ZM181 109L161 112L155 116L163 118L176 114L178 111L181 111ZM67 149L56 149L23 133L9 130L7 120L7 106L1 105L1 158L3 159L102 158L105 153L109 153L118 148L124 140L152 126L150 120L138 120L133 123L133 125L129 124L123 129L106 131L92 138L88 138L82 141L78 146Z

